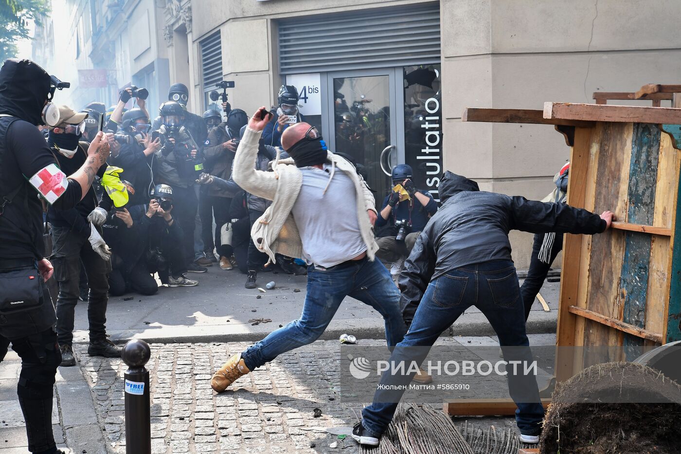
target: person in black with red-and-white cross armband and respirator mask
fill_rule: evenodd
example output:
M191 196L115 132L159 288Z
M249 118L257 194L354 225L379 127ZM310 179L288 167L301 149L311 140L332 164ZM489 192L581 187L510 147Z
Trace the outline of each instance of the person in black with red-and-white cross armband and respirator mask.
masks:
M0 361L12 344L21 357L17 394L29 451L46 454L63 453L52 434L52 389L61 353L54 307L42 286L53 269L44 258L43 207L37 196L54 211L72 209L109 153L106 138L98 134L88 160L72 175L57 167L36 126L59 123L59 108L50 100L62 87L33 61L10 59L0 69L0 273L9 283L0 290Z

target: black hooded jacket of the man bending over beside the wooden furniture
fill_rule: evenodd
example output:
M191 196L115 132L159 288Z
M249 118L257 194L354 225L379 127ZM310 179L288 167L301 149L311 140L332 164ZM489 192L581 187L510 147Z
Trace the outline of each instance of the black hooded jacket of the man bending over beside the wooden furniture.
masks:
M595 234L606 226L584 209L480 191L475 181L449 171L439 192L443 205L419 235L399 279L407 323L432 279L466 265L512 260L511 230Z

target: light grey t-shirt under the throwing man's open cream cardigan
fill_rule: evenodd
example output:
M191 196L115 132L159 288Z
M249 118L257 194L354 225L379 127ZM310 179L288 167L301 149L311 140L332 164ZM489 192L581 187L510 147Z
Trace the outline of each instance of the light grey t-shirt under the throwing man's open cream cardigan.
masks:
M331 168L304 167L302 187L291 213L302 240L302 259L333 267L366 251L357 219L355 185L336 169L326 194Z

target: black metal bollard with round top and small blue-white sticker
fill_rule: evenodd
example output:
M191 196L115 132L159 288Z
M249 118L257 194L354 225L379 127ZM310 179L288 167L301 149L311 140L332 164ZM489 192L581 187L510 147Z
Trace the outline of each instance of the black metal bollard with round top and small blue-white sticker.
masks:
M151 454L151 403L146 363L151 348L142 339L132 339L121 353L125 372L125 453Z

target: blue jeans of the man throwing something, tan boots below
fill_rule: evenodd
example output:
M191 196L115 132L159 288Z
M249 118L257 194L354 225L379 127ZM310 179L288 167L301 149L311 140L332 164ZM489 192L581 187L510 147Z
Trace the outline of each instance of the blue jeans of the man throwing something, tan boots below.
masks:
M284 352L315 342L331 322L345 297L353 297L376 309L385 320L385 339L395 346L407 327L400 312L400 292L380 260L367 258L344 262L322 271L312 265L307 272L307 294L299 320L270 333L242 353L249 370Z

